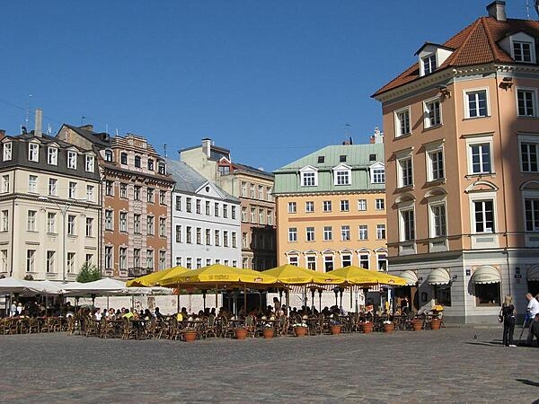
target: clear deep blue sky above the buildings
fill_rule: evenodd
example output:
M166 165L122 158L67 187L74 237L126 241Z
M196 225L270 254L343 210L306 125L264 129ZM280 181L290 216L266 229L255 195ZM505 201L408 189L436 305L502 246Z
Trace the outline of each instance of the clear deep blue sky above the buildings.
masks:
M273 171L381 127L370 95L490 0L17 0L0 4L0 128L93 123L163 154L203 137ZM508 0L526 18L526 0ZM533 0L529 0L533 4ZM531 18L537 15L533 7ZM86 117L86 118L82 118Z

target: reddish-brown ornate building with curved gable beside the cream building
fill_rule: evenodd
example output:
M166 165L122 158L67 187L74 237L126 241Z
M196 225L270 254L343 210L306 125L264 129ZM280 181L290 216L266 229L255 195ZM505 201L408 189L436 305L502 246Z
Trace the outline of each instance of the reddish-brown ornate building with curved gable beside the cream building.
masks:
M98 155L103 275L138 277L169 268L174 181L154 147L143 136L110 137L92 126L64 125L57 137L92 145Z

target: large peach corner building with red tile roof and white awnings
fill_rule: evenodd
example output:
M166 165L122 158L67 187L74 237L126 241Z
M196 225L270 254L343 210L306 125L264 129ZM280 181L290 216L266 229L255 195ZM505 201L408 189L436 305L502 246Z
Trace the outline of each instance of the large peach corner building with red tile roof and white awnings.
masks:
M384 115L389 268L417 309L496 321L539 292L539 22L495 1L378 90Z

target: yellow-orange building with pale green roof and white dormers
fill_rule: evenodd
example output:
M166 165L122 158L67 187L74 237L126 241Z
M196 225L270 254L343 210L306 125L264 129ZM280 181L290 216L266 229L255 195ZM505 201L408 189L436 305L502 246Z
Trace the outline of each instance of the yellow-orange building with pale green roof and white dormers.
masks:
M279 265L387 269L382 142L329 145L274 174Z

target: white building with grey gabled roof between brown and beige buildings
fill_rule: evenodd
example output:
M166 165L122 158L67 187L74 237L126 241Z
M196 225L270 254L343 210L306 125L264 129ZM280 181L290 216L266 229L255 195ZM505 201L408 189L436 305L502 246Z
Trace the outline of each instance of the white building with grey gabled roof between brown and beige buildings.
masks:
M184 162L165 160L172 191L172 262L185 268L239 267L240 201Z

